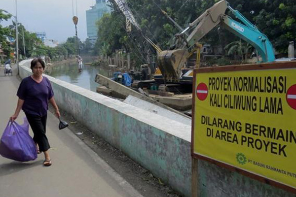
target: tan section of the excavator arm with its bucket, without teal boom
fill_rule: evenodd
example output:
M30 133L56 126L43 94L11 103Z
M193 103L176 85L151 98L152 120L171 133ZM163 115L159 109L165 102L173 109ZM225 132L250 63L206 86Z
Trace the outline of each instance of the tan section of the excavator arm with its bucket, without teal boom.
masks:
M175 50L158 53L158 67L166 81L179 81L187 58L200 47L198 41L221 22L220 16L225 13L226 9L226 1L219 1L189 24L189 27L184 32L175 35ZM194 28L193 31L185 38L185 32L192 28Z

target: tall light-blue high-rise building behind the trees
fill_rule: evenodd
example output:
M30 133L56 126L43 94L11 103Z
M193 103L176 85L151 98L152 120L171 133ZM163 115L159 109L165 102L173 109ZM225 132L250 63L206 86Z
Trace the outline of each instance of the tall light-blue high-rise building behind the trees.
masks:
M110 12L111 8L108 0L96 0L96 4L91 6L91 9L86 10L87 36L92 44L97 40L97 21L99 21L104 14Z

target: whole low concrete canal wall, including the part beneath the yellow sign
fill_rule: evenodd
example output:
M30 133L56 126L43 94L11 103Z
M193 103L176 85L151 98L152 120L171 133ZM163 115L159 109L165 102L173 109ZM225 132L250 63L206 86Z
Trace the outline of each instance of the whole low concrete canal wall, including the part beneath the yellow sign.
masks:
M21 77L30 75L22 62ZM191 128L46 76L60 108L186 197L191 194ZM199 162L200 197L295 197L236 172Z

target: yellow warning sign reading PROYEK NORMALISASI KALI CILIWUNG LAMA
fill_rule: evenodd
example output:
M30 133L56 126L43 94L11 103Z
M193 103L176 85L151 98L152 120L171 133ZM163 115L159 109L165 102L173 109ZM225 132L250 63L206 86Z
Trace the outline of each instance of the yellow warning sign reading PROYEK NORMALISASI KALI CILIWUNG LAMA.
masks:
M296 69L197 73L193 155L296 188Z

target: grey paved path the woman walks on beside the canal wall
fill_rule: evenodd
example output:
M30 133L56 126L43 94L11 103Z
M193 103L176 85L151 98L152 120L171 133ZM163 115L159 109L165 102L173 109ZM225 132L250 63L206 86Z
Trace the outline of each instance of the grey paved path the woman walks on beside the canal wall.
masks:
M4 77L0 69L0 135L16 107L20 83L16 73L14 66L14 76ZM21 112L16 122L22 124L24 116ZM0 156L0 197L141 197L68 128L59 131L58 123L48 113L50 167L42 165L43 154L28 163Z

